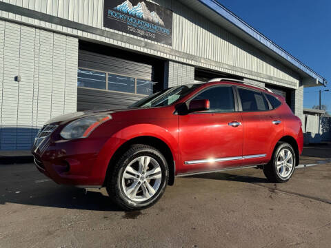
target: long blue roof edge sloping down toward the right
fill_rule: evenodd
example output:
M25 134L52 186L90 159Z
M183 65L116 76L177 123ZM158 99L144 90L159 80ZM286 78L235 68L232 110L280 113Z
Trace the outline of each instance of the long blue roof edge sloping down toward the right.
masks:
M245 21L241 20L239 17L237 17L237 15L235 15L234 13L230 12L230 10L222 6L221 3L218 3L215 0L199 0L199 2L203 3L204 6L210 8L210 10L213 10L217 14L221 15L227 21L237 26L237 28L243 30L243 32L245 32L246 34L249 34L250 37L259 41L261 44L265 45L265 47L269 48L276 54L279 54L279 56L292 63L292 65L299 68L299 70L305 72L309 76L312 76L312 78L317 79L322 85L325 86L328 83L328 81L326 81L326 79L324 79L323 76L317 74L317 72L314 72L314 70L312 70L307 65L296 59L289 52L286 52L279 45L277 45L276 43L265 37L259 31L252 28L252 26L248 25L248 23L245 23Z

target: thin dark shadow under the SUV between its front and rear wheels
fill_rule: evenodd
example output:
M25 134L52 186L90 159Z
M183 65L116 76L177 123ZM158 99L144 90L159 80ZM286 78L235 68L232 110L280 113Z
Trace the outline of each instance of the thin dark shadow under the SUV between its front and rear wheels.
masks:
M241 176L241 175L229 174L225 172L198 174L198 175L186 176L186 177L204 178L204 179L212 179L212 180L229 180L229 181L243 182L243 183L270 183L266 178L260 178L257 176Z

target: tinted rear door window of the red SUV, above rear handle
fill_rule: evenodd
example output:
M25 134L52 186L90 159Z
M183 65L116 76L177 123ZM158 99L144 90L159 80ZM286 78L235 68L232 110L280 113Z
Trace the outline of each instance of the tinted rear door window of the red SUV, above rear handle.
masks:
M261 92L238 88L244 112L269 110L268 102Z

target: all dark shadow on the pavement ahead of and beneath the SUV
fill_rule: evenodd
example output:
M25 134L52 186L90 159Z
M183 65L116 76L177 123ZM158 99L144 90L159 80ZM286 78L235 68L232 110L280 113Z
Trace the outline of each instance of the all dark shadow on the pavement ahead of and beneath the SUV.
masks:
M268 183L265 178L253 175L239 176L225 172L188 177ZM41 176L34 165L2 165L0 167L0 208L1 205L7 203L90 211L123 211L112 203L105 189L91 189L85 194L83 189L77 187L57 185L49 178Z

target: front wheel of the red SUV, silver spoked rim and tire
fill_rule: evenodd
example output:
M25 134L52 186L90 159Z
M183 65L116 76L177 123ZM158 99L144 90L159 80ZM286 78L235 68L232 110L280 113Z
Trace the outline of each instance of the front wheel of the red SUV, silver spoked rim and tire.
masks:
M122 209L146 209L161 198L168 178L168 165L159 150L149 145L132 145L114 165L106 189Z

